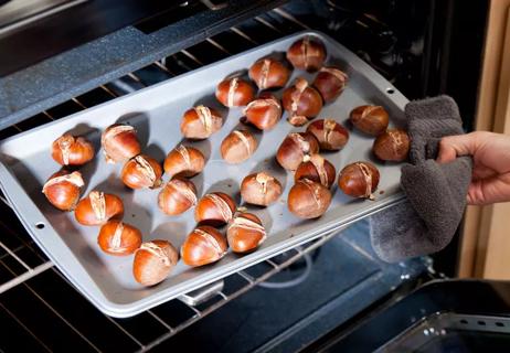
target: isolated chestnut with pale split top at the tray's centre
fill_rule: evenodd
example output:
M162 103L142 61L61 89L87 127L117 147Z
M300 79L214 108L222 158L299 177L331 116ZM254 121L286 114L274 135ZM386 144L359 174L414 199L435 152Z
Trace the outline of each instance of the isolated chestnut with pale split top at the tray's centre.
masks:
M247 203L268 206L281 195L280 182L266 172L245 176L241 183L241 196Z

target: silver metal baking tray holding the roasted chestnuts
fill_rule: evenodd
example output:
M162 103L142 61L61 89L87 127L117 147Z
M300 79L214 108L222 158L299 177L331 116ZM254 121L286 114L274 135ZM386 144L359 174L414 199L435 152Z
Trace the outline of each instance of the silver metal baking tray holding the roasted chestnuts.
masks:
M403 108L407 99L395 87L331 38L306 31L46 124L0 143L0 186L6 197L35 243L99 310L118 318L134 315L403 200L399 189L400 165L374 161L381 172L375 201L348 197L333 186L332 203L322 217L304 221L291 215L286 197L293 175L277 165L274 156L288 132L301 131L305 127L290 126L286 121L287 115L273 130L256 135L258 149L251 159L237 165L226 164L221 159L220 143L240 125L242 108L226 110L221 107L214 98L215 85L225 76L245 71L259 57L280 55L304 35L319 38L328 51L327 64L342 67L350 77L347 89L333 104L323 107L319 118L334 117L346 125L353 107L371 103L384 106L393 125L405 122ZM298 74L307 79L314 77L295 71L290 82ZM198 104L219 108L227 115L219 132L208 140L190 143L208 158L203 173L192 179L199 195L223 191L240 202L238 185L242 179L262 170L272 172L283 183L285 191L281 199L267 208L248 207L261 217L268 232L266 242L258 250L245 256L229 253L221 261L202 268L190 268L179 261L166 281L144 288L132 279L132 256L119 258L102 253L96 244L98 227L82 226L74 220L73 213L60 212L45 201L41 193L42 185L60 168L51 158L51 143L62 133L71 131L86 135L98 149L100 131L114 122L123 121L136 127L145 146L144 152L162 161L166 153L182 141L179 131L182 114ZM346 148L340 152L326 153L325 157L340 171L349 162L372 160L372 138L351 130ZM195 226L193 211L181 216L166 216L157 207L159 190L127 190L118 178L120 169L121 165L107 164L99 151L93 162L81 169L86 181L84 195L94 189L118 194L125 202L125 221L140 228L144 240L164 238L179 247Z

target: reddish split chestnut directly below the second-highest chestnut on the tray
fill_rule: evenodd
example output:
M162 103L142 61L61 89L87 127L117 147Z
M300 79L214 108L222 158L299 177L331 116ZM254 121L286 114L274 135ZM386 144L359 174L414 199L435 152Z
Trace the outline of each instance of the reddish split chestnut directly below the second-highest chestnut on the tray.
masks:
M281 105L275 96L262 94L246 106L244 114L246 121L253 124L257 129L269 130L281 118Z

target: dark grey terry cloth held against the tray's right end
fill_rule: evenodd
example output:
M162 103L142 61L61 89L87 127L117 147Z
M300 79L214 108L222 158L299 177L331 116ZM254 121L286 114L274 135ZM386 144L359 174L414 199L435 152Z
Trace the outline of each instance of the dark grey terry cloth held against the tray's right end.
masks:
M410 164L402 167L407 200L371 216L372 246L387 263L443 249L451 240L466 207L472 161L435 161L442 137L464 133L454 99L439 96L407 104Z

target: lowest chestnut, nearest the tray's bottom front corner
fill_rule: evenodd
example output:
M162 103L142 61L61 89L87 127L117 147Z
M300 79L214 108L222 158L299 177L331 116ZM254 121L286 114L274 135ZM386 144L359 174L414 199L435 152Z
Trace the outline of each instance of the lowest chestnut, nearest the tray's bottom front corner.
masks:
M142 286L163 281L177 265L179 254L167 240L151 240L140 245L132 261L132 276Z

